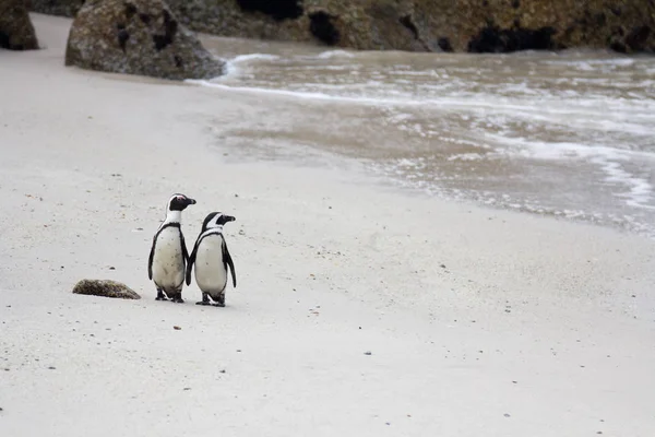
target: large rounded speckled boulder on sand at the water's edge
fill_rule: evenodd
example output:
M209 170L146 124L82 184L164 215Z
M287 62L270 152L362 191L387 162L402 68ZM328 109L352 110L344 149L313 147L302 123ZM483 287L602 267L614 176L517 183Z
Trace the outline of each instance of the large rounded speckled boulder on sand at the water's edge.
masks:
M86 1L71 26L66 64L171 80L224 72L160 0Z

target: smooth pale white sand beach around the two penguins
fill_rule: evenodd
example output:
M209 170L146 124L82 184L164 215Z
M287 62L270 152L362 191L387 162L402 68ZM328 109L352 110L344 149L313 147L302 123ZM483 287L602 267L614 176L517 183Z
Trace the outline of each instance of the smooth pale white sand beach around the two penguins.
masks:
M67 69L33 19L48 49L0 51L0 436L655 435L653 241L227 163L207 119L281 97ZM226 308L154 300L175 191L188 245L237 217Z

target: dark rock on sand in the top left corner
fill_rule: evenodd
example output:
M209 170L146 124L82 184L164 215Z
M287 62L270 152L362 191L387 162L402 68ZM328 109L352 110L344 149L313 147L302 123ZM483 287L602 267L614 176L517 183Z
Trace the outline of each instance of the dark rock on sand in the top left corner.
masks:
M34 50L38 40L24 0L0 0L0 48Z

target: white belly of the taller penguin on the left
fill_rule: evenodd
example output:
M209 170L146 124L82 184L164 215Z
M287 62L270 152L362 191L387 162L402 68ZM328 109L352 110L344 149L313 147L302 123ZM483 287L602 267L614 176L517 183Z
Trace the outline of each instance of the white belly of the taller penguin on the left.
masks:
M157 236L153 257L153 280L164 291L181 288L184 281L184 258L180 229L167 227Z

